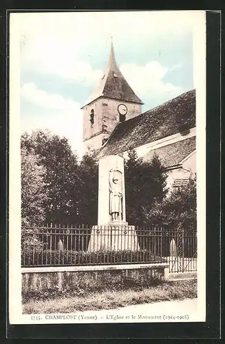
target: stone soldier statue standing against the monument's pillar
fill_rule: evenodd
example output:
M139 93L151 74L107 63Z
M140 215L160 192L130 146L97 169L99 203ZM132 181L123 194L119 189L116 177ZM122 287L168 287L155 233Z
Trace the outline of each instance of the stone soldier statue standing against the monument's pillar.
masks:
M109 171L109 214L112 221L122 220L122 173Z

